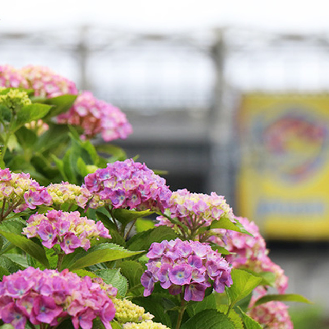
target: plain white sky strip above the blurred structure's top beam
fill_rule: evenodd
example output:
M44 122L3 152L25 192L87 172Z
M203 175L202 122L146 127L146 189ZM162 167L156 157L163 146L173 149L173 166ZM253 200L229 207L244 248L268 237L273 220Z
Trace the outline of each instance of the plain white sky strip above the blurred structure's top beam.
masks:
M100 25L147 32L236 26L280 32L329 31L329 1L0 0L0 32Z

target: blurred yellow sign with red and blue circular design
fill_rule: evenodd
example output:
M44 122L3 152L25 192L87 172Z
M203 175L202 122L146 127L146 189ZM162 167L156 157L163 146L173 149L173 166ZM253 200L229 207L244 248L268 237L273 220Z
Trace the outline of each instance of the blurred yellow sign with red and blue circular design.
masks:
M239 215L271 239L329 239L329 95L244 95Z

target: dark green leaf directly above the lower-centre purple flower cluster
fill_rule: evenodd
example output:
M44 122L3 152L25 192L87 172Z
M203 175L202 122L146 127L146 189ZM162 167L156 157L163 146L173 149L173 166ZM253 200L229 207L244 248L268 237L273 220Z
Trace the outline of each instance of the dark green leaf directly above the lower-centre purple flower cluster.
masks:
M173 240L178 236L173 229L167 226L158 226L151 230L143 231L135 234L127 242L130 250L149 250L153 242L161 242L162 240Z

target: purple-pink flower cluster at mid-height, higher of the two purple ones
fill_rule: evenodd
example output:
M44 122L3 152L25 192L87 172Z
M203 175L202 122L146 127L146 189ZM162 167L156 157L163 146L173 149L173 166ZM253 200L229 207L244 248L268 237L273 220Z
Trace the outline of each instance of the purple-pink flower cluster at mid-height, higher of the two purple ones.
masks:
M133 159L108 163L106 168L88 174L84 181L93 193L91 208L108 204L113 208L164 211L171 196L165 179Z

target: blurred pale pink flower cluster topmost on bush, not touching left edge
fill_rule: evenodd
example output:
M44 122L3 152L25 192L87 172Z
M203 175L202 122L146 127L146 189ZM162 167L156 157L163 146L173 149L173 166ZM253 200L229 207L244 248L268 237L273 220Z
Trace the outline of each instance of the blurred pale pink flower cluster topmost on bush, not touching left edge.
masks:
M74 82L56 74L48 67L27 65L20 72L28 81L28 87L34 89L35 96L52 98L65 94L78 94Z

